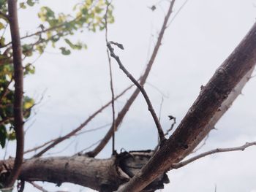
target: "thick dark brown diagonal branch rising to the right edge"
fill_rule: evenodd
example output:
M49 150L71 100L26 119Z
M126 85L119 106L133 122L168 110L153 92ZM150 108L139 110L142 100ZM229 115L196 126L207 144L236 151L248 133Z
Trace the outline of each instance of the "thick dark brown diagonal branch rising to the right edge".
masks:
M157 175L186 157L202 141L211 118L230 92L256 64L256 23L202 89L195 103L165 145L121 191L141 191ZM211 130L211 129L210 129ZM142 180L143 178L143 180Z

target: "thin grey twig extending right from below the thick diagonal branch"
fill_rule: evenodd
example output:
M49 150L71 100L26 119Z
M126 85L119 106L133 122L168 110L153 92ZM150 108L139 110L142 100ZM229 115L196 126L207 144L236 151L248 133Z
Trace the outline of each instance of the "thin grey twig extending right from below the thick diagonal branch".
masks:
M209 150L209 151L207 151L205 153L201 153L199 155L195 155L195 157L189 158L188 160L181 161L178 164L173 164L172 168L173 169L179 169L182 166L187 166L187 164L190 164L190 163L192 163L193 161L196 161L199 158L203 158L203 157L205 157L207 155L212 155L214 153L224 153L224 152L237 151L237 150L244 151L247 147L251 147L253 145L256 145L256 142L246 142L246 144L241 145L239 147L217 148L215 150Z

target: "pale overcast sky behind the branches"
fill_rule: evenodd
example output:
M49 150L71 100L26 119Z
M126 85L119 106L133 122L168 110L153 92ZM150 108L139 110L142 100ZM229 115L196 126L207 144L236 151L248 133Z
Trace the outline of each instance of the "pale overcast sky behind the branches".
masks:
M41 5L53 7L56 12L72 12L75 1L42 1ZM151 5L159 1L116 0L113 1L116 22L109 26L109 39L120 42L124 50L116 53L129 72L139 77L157 41L168 7L161 1L152 12ZM176 0L173 15L184 1ZM167 129L170 121L167 115L177 118L177 123L186 114L198 96L200 85L205 85L217 67L238 45L249 28L255 23L255 0L189 0L167 28L156 62L148 77L145 88L157 112L162 105L162 126ZM22 34L35 31L38 26L37 10L20 11ZM110 82L104 32L97 34L84 31L74 39L83 40L88 50L72 51L69 56L59 50L48 48L35 63L36 74L26 77L26 94L39 100L37 115L26 127L26 149L42 144L76 128L86 118L110 100ZM33 58L34 59L34 58ZM127 77L113 62L115 93L130 85ZM198 152L216 147L233 147L245 142L256 141L256 79L244 88L233 107L212 131L206 145ZM154 88L157 87L157 88ZM160 93L161 91L161 93ZM131 93L131 92L129 92ZM129 98L129 94L116 102L116 110ZM105 110L87 128L96 128L111 122L111 111ZM97 142L105 135L107 128L69 139L59 147L50 150L54 155L71 155ZM154 121L141 96L129 110L121 128L116 134L116 148L124 150L153 149L157 145L157 131ZM9 146L12 148L12 145ZM255 192L256 191L256 147L244 152L222 153L200 159L193 164L170 172L170 184L162 191L214 191ZM10 154L9 154L10 155ZM108 145L99 158L110 157ZM45 188L56 191L54 185ZM79 191L79 186L64 184L61 189ZM27 185L26 191L36 191ZM91 191L83 188L83 191Z

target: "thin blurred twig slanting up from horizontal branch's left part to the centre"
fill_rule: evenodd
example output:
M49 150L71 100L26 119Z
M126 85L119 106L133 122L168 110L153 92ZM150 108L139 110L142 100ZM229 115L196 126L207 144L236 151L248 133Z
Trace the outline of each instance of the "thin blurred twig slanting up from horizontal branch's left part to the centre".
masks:
M124 91L122 91L118 96L116 96L115 99L118 99L120 96L122 96L124 93L126 93L130 88L132 88L133 85L130 85L128 88L126 88ZM68 134L66 134L63 137L59 137L58 139L54 140L52 144L50 144L48 147L45 147L45 149L41 150L39 153L34 155L34 157L39 157L42 154L44 154L46 151L50 150L51 148L58 145L60 142L63 142L65 139L69 139L69 137L74 136L78 131L80 131L84 126L86 126L96 115L98 115L102 110L104 110L108 105L111 104L112 101L109 101L107 104L105 104L103 107L101 107L99 110L94 112L89 118L83 122L78 128L75 128L73 131L70 131Z

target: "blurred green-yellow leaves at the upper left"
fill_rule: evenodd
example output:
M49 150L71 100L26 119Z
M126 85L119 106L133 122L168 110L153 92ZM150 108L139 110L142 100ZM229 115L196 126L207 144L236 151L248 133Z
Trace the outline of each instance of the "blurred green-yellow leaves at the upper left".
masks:
M28 9L38 4L39 0L26 0L19 3L20 9ZM72 42L70 36L76 32L101 31L105 28L105 9L108 1L103 0L83 0L75 4L73 12L75 15L64 13L56 14L50 7L41 7L38 18L41 21L39 30L32 34L21 37L23 63L26 58L34 53L42 54L50 44L58 48L63 55L69 55L71 50L81 50L86 48L83 42ZM7 0L0 0L0 145L4 147L7 139L15 139L13 130L13 65L12 65L12 45L7 42L6 29L9 25L7 15ZM108 23L113 23L113 6L108 6ZM9 39L10 41L10 39ZM62 42L61 47L57 47L57 42ZM66 45L66 46L63 46ZM34 74L34 66L26 64L24 75ZM29 118L34 100L28 96L23 99L24 118Z

